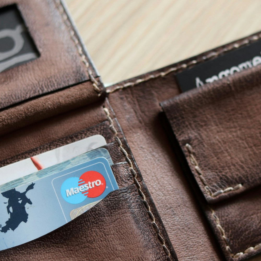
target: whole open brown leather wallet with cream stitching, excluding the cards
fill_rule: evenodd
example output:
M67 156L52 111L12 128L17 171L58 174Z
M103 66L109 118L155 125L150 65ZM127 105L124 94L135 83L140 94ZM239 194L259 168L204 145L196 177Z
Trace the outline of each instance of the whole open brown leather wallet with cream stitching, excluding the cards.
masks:
M260 66L175 77L261 34L105 89L60 1L16 6L39 57L1 73L0 166L101 134L119 189L0 260L261 260Z

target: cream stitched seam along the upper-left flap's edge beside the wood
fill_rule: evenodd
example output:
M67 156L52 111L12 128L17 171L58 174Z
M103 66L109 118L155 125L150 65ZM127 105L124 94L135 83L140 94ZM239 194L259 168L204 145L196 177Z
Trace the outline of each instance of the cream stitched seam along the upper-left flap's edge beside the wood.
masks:
M91 70L90 67L89 67L90 64L88 63L88 61L87 61L87 59L86 59L86 56L85 56L84 53L82 52L82 47L81 47L81 45L80 45L80 43L79 43L77 37L75 36L74 30L73 30L72 27L71 27L71 23L70 23L70 21L69 21L69 19L68 19L68 15L66 14L66 12L65 12L65 10L64 10L64 7L63 7L63 5L62 5L62 2L61 2L60 0L54 0L54 1L55 1L55 5L56 5L56 7L57 7L59 13L60 13L61 16L62 16L63 22L64 22L64 24L66 25L66 27L67 27L67 29L68 29L68 32L69 32L69 34L70 34L70 38L72 39L72 41L74 42L74 45L75 45L76 48L77 48L77 51L78 51L78 53L79 53L79 55L80 55L80 58L81 58L81 61L82 61L82 62L84 63L84 65L86 66L87 73L88 73L89 78L90 78L90 80L91 80L91 82L92 82L92 86L93 86L94 90L95 90L96 92L98 92L98 96L100 96L100 95L101 95L101 90L100 90L99 87L98 87L98 84L99 84L99 83L98 83L98 81L97 81L97 80L93 77L93 75L92 75L92 70Z

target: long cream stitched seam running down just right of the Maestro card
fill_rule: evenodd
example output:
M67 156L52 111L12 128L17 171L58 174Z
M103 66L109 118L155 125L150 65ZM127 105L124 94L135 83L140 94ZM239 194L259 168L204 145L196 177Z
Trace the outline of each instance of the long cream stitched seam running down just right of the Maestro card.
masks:
M158 225L156 224L155 217L154 217L154 215L153 215L152 212L151 212L151 207L150 207L148 201L146 200L146 197L145 197L144 193L141 191L141 186L140 186L139 181L137 180L137 173L136 173L136 171L133 169L132 161L131 161L131 159L129 158L129 155L128 155L127 151L126 151L126 150L123 148L123 146L122 146L122 142L121 142L120 138L118 137L118 133L117 133L115 127L114 127L114 123L113 123L113 121L112 121L112 118L110 117L110 112L109 112L109 110L108 110L106 107L103 107L103 110L104 110L104 112L105 112L105 114L106 114L107 120L108 120L109 123L110 123L110 129L111 129L111 131L112 131L113 134L114 134L114 137L115 137L115 140L116 140L117 143L118 143L119 149L120 149L120 151L122 152L122 154L124 155L124 157L125 157L125 159L126 159L128 165L129 165L129 169L131 170L131 173L132 173L132 175L133 175L134 183L135 183L136 186L138 187L138 192L139 192L139 194L140 194L140 196L141 196L141 198L142 198L142 201L143 201L143 203L144 203L144 205L145 205L145 207L146 207L146 209L147 209L147 212L148 212L149 217L150 217L150 219L151 219L151 224L152 224L153 228L155 229L155 231L156 231L156 233L157 233L158 240L161 242L162 248L163 248L165 254L167 255L167 260L170 261L170 260L171 260L171 259L170 259L170 252L169 252L167 246L165 245L165 240L164 240L164 238L161 236L161 231L160 231Z

